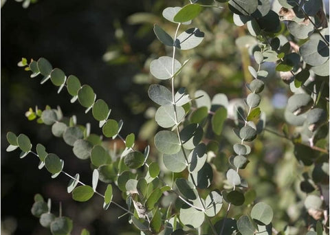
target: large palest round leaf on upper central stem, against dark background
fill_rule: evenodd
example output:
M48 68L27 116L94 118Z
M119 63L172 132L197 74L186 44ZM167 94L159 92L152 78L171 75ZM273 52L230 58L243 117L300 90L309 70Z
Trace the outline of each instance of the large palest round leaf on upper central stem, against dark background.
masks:
M169 56L161 56L150 63L150 72L155 78L166 80L172 78L173 75L181 68L181 63L174 59L174 71L172 68L173 59Z

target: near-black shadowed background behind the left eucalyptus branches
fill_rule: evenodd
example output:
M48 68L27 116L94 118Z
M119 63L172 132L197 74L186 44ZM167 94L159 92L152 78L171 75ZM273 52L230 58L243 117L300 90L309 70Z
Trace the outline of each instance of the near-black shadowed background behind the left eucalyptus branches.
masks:
M82 181L90 183L91 170L84 161L75 161L72 148L63 139L52 136L50 126L28 121L25 111L36 105L44 109L48 104L57 105L66 116L76 114L78 124L91 122L92 132L100 133L98 123L91 112L84 115L83 107L69 102L66 91L56 93L51 82L40 85L41 77L30 78L30 72L17 67L22 57L38 60L47 58L53 67L61 68L67 76L74 74L82 84L91 85L98 98L113 109L111 118L124 120L124 133L137 133L144 122L143 115L132 114L124 96L134 90L135 96L146 96L144 87L132 82L133 75L140 72L148 44L154 40L152 30L137 37L139 25L129 25L126 17L134 12L153 10L155 1L122 0L40 0L24 9L21 3L8 0L1 8L1 232L12 234L50 234L39 225L30 209L33 197L41 193L45 199L52 198L52 212L58 212L59 201L63 215L74 220L74 232L86 227L93 234L124 234L131 230L127 217L117 219L122 210L110 207L110 213L102 211L102 200L94 197L92 203L76 203L67 194L68 178L60 175L50 178L47 170L38 170L38 159L28 155L19 159L19 150L6 153L8 143L5 134L12 131L25 133L35 146L47 146L49 153L56 153L65 160L65 170L80 173ZM153 8L153 9L152 9ZM118 26L119 25L119 26ZM152 29L151 23L151 29ZM115 27L123 30L127 54L139 54L139 60L122 65L109 65L102 56L111 47L122 49L115 37ZM141 91L141 95L139 93ZM33 148L34 149L34 148ZM77 165L78 164L78 165ZM104 189L100 189L104 190ZM120 195L118 200L120 201ZM78 208L79 207L79 208ZM99 218L99 219L98 219ZM92 228L93 227L93 228ZM127 228L129 227L129 228ZM10 234L10 233L7 233Z

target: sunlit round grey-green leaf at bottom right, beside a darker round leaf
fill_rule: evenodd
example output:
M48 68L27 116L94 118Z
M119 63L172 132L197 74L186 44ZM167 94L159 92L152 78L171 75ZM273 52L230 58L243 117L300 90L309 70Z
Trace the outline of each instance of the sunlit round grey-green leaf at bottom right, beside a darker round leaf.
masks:
M273 210L270 205L260 202L256 203L251 210L251 217L261 225L269 225L273 219Z

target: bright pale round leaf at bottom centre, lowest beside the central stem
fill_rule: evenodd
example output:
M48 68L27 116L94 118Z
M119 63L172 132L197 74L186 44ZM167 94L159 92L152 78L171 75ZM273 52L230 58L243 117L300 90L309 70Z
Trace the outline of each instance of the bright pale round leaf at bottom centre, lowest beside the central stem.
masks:
M195 208L181 208L179 218L184 225L189 227L200 227L204 222L205 214Z

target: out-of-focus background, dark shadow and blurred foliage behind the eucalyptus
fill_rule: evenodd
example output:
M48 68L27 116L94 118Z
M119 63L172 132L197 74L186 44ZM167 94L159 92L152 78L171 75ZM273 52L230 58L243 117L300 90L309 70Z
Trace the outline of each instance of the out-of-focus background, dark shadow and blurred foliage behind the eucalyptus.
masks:
M5 133L27 133L32 143L41 143L50 153L65 159L67 172L79 172L82 181L90 182L89 164L76 161L72 149L62 139L53 137L49 126L29 122L24 113L36 105L41 109L47 104L60 105L66 116L76 114L78 124L91 122L92 132L100 134L91 113L84 115L82 107L70 104L66 93L58 95L50 82L41 87L39 80L29 78L17 63L22 56L45 57L55 67L91 85L98 97L109 104L112 117L124 121L122 133L135 133L137 144L143 149L157 130L153 119L156 108L148 98L147 89L159 81L149 74L149 63L170 53L155 38L153 24L174 33L175 27L162 18L162 10L186 2L39 0L32 3L25 9L21 3L8 0L1 8L1 232L50 234L30 213L33 196L39 192L45 198L52 198L54 211L58 210L55 205L62 201L63 214L74 221L73 234L83 227L91 234L140 234L133 226L127 226L125 216L118 219L124 213L120 209L111 206L104 212L102 199L98 197L89 203L77 203L66 192L65 176L52 180L46 170L36 170L36 159L19 159L17 153L5 153ZM273 4L276 8L278 3ZM211 98L225 93L230 100L242 99L246 97L245 81L250 80L245 71L248 65L254 66L254 60L235 41L248 32L245 27L234 25L227 5L218 5L224 8L206 8L194 21L205 38L200 47L178 54L179 60L190 58L190 61L176 81L177 87L186 87L190 94L203 89ZM283 137L284 109L292 95L289 86L275 72L274 64L265 63L263 67L270 73L260 106L267 116L267 130L254 141L250 164L241 175L256 191L256 200L262 199L272 206L277 230L292 226L289 234L302 234L313 221L305 221L311 217L303 206L305 193L300 190L300 182L304 179L303 172L310 175L313 167L300 165L294 157L294 145ZM325 95L329 97L329 93ZM207 136L220 143L219 155L214 158L219 170L214 175L214 188L223 188L232 144L237 141L232 126L234 123L228 120L221 136ZM289 126L288 131L294 134L295 129ZM154 153L154 157L158 156ZM118 191L115 201L120 200ZM230 216L239 218L241 213L241 208L234 208ZM305 219L300 214L305 214Z

